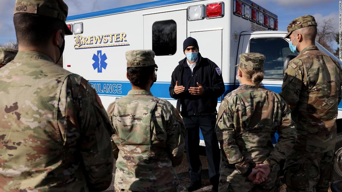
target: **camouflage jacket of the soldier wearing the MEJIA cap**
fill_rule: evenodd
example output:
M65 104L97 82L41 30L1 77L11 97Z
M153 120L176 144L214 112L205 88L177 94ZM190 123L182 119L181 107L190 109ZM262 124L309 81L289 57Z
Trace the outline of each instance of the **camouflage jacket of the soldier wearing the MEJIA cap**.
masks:
M171 103L146 90L131 90L107 113L115 129L115 187L157 192L177 186L169 157L183 157L185 127Z

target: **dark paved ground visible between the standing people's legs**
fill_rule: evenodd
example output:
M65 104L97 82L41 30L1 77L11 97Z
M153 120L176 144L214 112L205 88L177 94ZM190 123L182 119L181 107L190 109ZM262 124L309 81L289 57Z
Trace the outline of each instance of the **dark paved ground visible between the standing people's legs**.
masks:
M207 157L206 156L200 156L200 160L202 163L202 188L195 191L195 192L210 192L212 186L209 182ZM114 167L114 171L113 171L112 184L105 192L114 192L115 169L116 169L116 167ZM185 153L184 153L182 164L180 166L176 167L176 172L177 172L178 178L180 180L181 192L185 192L183 190L184 184L189 182L188 165L186 163L186 154ZM280 189L280 192L285 192L285 191L286 191L286 186L283 185ZM328 192L331 192L331 190L329 189Z

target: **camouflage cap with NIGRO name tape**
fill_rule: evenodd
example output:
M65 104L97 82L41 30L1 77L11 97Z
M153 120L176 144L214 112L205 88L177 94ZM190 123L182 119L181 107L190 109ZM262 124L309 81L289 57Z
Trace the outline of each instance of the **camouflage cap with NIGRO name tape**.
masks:
M68 6L63 0L16 0L14 14L32 13L60 19L65 22L68 15ZM72 35L65 24L65 34Z

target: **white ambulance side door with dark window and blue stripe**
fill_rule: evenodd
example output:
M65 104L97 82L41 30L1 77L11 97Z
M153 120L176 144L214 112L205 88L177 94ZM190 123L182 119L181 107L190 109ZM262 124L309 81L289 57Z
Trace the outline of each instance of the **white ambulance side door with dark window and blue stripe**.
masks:
M176 101L169 95L171 75L185 56L186 10L144 15L144 49L152 49L158 65L157 82L151 88L155 97Z

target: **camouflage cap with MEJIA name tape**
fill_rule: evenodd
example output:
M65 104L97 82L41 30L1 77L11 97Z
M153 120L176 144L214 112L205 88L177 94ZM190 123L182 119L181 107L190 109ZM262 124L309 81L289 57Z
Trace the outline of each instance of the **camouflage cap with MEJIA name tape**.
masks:
M127 67L147 67L155 65L153 50L130 50L126 52Z

